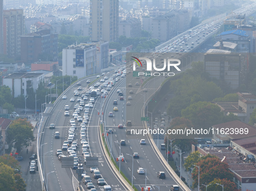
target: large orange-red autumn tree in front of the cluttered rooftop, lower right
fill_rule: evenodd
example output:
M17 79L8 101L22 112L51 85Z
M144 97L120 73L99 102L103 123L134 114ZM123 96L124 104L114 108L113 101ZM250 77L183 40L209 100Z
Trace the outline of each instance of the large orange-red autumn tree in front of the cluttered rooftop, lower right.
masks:
M208 184L213 181L214 178L227 178L227 180L232 180L233 174L228 169L227 163L221 162L217 157L207 157L206 159L201 159L197 164L200 166L200 183ZM193 186L198 185L198 168L194 168L192 173L192 178L194 179Z

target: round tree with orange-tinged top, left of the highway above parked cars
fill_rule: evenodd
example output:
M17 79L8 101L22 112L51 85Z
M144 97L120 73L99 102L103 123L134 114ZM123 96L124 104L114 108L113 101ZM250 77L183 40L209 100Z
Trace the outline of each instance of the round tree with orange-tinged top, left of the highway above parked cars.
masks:
M7 129L7 140L9 143L14 143L19 152L22 147L27 147L34 141L32 132L33 126L26 119L17 119Z

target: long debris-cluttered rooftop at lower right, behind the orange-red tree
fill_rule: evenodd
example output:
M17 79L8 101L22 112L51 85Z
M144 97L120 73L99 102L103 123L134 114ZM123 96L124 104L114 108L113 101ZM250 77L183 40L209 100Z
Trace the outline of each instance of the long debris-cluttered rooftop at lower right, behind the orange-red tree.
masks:
M246 177L256 177L255 163L249 163L243 160L244 156L237 155L237 152L230 147L203 147L204 152L218 157L220 160L228 163L229 169L237 175Z

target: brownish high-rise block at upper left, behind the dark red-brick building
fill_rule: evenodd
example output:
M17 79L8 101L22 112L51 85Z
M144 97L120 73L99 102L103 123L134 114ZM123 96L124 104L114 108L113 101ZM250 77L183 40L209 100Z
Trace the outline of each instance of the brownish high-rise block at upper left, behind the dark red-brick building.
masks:
M22 9L3 11L3 54L10 57L20 55L20 36L25 33Z

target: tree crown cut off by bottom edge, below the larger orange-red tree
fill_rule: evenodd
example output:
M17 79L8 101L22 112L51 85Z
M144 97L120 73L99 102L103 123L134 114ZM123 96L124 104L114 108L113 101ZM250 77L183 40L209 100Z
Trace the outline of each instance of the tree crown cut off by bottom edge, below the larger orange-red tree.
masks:
M222 191L222 187L220 185L216 185L215 183L224 185L224 190L238 191L236 184L234 182L231 182L230 180L227 180L227 178L224 178L224 179L214 178L212 182L209 182L209 185L210 184L211 185L207 187L207 191ZM202 189L202 191L205 191L205 190L206 190L205 188Z

